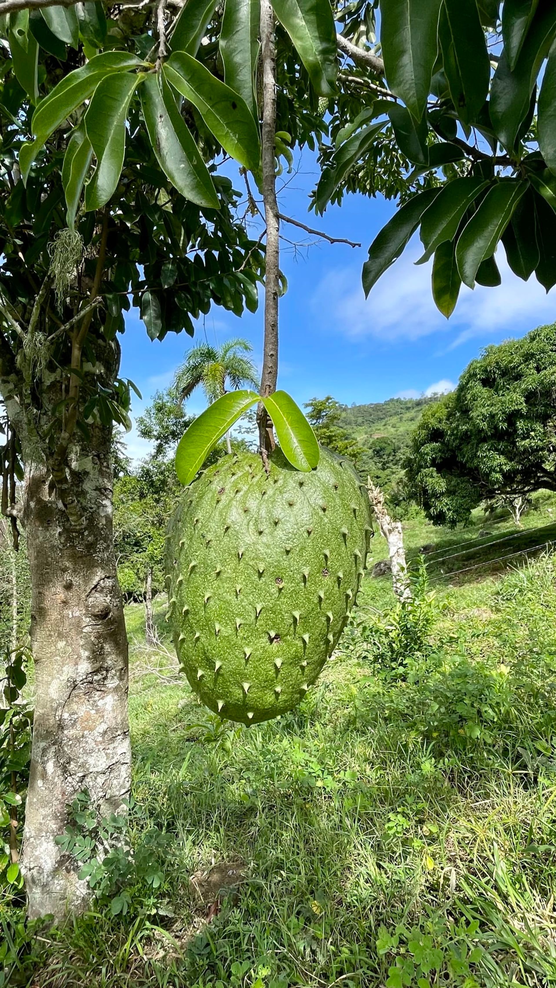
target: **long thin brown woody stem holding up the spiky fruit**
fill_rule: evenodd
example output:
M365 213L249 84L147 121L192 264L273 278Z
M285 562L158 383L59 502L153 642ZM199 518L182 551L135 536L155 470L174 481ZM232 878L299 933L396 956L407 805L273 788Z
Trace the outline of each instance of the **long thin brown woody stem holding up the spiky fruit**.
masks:
M278 378L278 294L280 263L280 213L276 201L276 51L274 12L270 0L261 0L260 43L262 60L262 198L266 222L266 275L264 280L264 350L261 395L276 390ZM276 445L272 421L262 402L257 408L260 453L267 467L267 455Z

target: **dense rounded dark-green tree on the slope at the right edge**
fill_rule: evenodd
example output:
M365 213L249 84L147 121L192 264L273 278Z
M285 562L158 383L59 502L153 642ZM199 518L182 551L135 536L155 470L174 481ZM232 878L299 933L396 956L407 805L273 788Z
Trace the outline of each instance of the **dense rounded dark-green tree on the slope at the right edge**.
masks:
M482 501L556 490L556 325L487 347L455 391L424 409L407 459L411 496L434 525Z

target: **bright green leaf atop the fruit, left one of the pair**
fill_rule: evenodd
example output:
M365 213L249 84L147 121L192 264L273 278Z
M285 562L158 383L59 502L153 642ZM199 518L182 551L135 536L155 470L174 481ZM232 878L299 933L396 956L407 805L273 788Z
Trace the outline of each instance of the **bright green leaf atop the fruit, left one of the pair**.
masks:
M191 423L176 450L176 473L180 483L191 483L218 441L258 400L254 391L229 391Z

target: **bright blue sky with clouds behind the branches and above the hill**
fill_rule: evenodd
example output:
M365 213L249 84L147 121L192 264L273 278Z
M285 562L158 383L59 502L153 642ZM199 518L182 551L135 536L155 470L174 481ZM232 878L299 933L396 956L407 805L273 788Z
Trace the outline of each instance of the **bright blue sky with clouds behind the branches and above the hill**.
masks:
M527 283L516 279L499 249L502 286L463 288L454 314L446 320L432 301L430 266L415 265L418 234L365 300L361 268L369 244L392 215L394 204L346 196L341 206L328 206L323 217L316 217L308 212L316 178L315 161L304 155L298 172L279 180L279 187L285 186L279 194L281 211L331 236L358 241L361 247L316 242L296 227L282 224L284 237L297 246L282 243L281 267L288 291L280 301L278 386L299 404L326 394L351 404L449 388L484 346L521 336L556 318L556 291L547 296L534 276ZM196 342L205 333L209 342L219 344L243 336L251 342L260 365L262 332L262 305L254 315L246 312L240 319L215 307L204 325L203 321L198 325ZM134 397L135 414L156 389L170 382L191 345L185 333L151 342L137 310L128 313L122 374L138 384L143 396L142 402ZM203 407L201 394L188 404L195 413ZM135 429L129 449L134 456L146 452Z

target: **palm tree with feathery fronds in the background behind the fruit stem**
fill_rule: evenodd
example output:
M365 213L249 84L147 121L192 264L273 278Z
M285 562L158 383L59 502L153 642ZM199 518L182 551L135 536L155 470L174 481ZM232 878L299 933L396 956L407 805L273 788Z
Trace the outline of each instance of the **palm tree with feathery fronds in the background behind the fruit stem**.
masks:
M250 343L240 337L233 337L223 343L222 347L211 347L208 343L192 347L174 378L179 399L185 401L199 386L203 388L210 405L227 391L237 390L245 385L258 389L256 366L250 357L244 356L251 351ZM228 433L226 442L228 452L232 453Z

